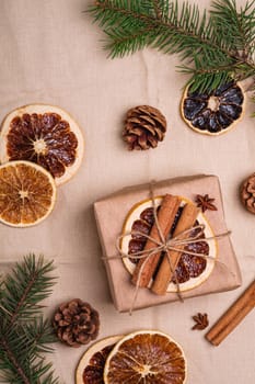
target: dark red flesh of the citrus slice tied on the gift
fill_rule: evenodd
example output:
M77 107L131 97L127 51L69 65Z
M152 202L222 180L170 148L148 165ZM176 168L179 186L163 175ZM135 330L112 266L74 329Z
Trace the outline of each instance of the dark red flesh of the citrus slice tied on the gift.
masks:
M171 228L170 236L173 235L174 229L177 225L177 222L181 217L183 208L181 207L175 216L174 224ZM128 244L128 255L134 255L137 252L140 252L143 250L147 241L147 237L142 236L149 235L150 230L152 228L152 225L154 223L154 215L153 215L153 208L149 207L142 211L140 214L139 219L135 221L131 226L131 231L139 231L140 234L131 234L131 239ZM198 221L195 223L195 226L198 225ZM195 229L194 229L195 230ZM200 235L200 238L205 238L205 234ZM185 253L186 251L195 252L195 253L201 253L205 256L209 255L209 245L207 241L198 241L198 242L192 242L184 248L184 252L181 256L179 262L177 264L177 268L175 270L175 275L173 278L173 283L185 283L192 278L199 276L207 267L207 260L199 256L190 256L188 253ZM162 256L163 258L163 256ZM162 260L161 258L161 260ZM132 258L129 259L131 262L137 263L139 259Z

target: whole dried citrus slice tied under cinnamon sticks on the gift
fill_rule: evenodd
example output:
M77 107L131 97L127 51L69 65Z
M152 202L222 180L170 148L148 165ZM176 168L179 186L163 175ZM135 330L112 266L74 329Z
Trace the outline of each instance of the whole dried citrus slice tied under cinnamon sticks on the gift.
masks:
M159 208L162 203L163 196L155 196L154 204ZM181 217L183 206L186 203L192 203L186 197L181 197L181 206L175 216L170 235L173 234L176 224ZM131 234L131 231L139 231L144 235L149 235L154 223L154 214L152 207L152 200L143 200L136 204L128 212L123 227L123 238L120 240L120 249L124 253L130 255L129 258L124 258L123 262L130 274L134 273L138 259L134 259L134 253L142 251L147 238L142 235ZM175 270L175 276L172 279L167 286L167 292L176 292L177 284L182 292L192 290L202 282L205 282L213 270L215 261L217 259L218 247L216 239L206 241L205 238L212 238L215 236L213 230L207 219L207 217L199 212L195 225L204 225L205 230L201 234L200 241L186 245L182 252L177 268ZM196 229L194 229L196 230ZM186 250L186 252L185 252ZM201 253L205 257L192 256L189 252Z

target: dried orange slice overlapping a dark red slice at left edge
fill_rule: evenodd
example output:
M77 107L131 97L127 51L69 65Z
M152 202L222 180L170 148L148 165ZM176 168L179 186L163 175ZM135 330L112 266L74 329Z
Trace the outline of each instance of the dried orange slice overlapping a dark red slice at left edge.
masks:
M55 181L43 167L28 161L0 166L0 222L14 227L38 224L55 202Z

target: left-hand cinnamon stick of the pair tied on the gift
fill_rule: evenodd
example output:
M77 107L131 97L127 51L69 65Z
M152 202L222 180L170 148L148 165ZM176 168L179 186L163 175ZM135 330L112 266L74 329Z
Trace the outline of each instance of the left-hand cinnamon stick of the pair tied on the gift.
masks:
M170 229L174 223L174 218L177 214L178 207L181 204L181 200L177 196L173 196L171 194L166 194L162 201L159 215L158 215L158 222L159 226L161 228L162 235L164 238L170 233ZM151 231L150 231L150 237L155 239L155 241L161 241L161 237L158 230L158 226L154 223ZM153 248L157 248L157 245L154 241L148 239L144 246L144 250L153 250ZM160 253L158 252L153 256L151 256L149 259L140 259L134 275L132 275L132 283L134 284L139 284L140 287L146 287L151 281L151 278L155 271L155 268L158 266L159 259L160 259ZM144 264L144 266L143 266ZM142 269L142 271L141 271ZM140 272L141 271L141 272ZM139 280L139 281L138 281Z

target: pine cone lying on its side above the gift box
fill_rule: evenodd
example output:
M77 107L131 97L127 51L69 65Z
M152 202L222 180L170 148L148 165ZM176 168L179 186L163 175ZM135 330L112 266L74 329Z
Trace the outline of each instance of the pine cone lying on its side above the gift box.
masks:
M127 112L123 136L129 150L155 148L165 132L166 120L155 108L139 105Z

